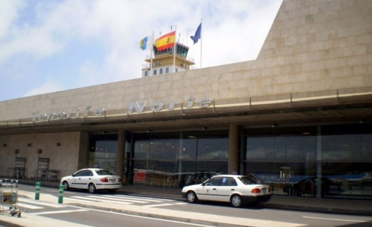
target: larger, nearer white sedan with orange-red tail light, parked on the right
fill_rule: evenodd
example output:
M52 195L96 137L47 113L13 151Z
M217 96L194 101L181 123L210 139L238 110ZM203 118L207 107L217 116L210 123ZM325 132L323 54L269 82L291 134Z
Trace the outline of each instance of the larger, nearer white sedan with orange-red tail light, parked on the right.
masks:
M182 197L190 203L198 200L230 202L234 207L241 207L243 203L269 201L271 190L269 185L257 184L246 176L218 175L201 184L183 187Z

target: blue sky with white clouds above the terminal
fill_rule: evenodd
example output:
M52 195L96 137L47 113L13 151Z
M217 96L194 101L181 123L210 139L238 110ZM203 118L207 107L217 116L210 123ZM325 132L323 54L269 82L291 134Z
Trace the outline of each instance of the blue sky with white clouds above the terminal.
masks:
M254 60L281 3L0 0L0 101L141 78L150 50L140 40L175 27L195 68Z

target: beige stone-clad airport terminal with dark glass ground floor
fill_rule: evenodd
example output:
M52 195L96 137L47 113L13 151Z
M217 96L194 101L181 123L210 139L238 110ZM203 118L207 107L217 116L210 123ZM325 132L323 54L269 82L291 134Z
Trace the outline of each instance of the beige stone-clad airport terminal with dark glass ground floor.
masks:
M371 199L371 22L370 0L284 0L256 60L0 101L0 176Z

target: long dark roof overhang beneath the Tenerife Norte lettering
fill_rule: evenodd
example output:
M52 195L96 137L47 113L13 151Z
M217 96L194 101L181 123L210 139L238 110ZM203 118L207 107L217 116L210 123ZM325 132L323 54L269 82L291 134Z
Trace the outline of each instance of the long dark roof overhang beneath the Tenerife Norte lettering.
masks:
M266 97L267 98L267 97ZM250 99L249 102L258 100ZM235 102L236 103L236 102ZM123 112L123 111L122 111ZM230 124L246 127L306 126L322 124L372 123L372 94L335 96L303 101L269 101L215 104L191 108L117 116L43 121L0 126L0 135L85 131L133 132L228 128Z

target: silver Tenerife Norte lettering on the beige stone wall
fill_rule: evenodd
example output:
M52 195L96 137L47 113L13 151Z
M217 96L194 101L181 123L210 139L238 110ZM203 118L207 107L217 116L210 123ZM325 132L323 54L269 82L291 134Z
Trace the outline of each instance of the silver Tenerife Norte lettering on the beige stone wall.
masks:
M212 103L212 100L209 98L202 98L199 100L194 99L193 96L191 96L188 100L185 101L186 108L193 108L194 103L197 103L198 107L200 108L206 108L209 107ZM177 103L176 101L171 101L168 106L168 110L174 110ZM134 111L137 113L143 113L144 108L146 107L146 101L131 101L129 103L127 114L132 114ZM149 108L152 112L159 112L163 110L165 105L161 101L155 101L150 104ZM182 106L181 106L182 107ZM62 120L62 119L72 119L72 118L80 118L80 117L88 117L91 115L91 113L94 114L94 116L106 116L106 111L104 108L97 108L92 110L91 105L86 105L84 108L78 107L75 110L70 110L67 112L60 111L58 113L50 112L50 113L42 113L39 114L39 112L32 112L31 118L32 122L36 121L50 121L50 120Z

